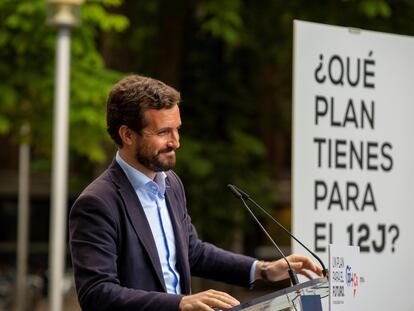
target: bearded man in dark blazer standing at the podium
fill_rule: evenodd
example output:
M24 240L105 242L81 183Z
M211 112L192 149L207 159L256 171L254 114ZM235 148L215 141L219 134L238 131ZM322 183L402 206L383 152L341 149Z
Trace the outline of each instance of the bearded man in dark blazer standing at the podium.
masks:
M287 278L284 261L264 263L198 239L183 185L171 170L180 147L180 94L129 76L112 89L107 129L118 152L70 213L70 245L83 310L213 310L239 302L208 290L191 295L191 275L248 287ZM288 257L298 273L321 270Z

